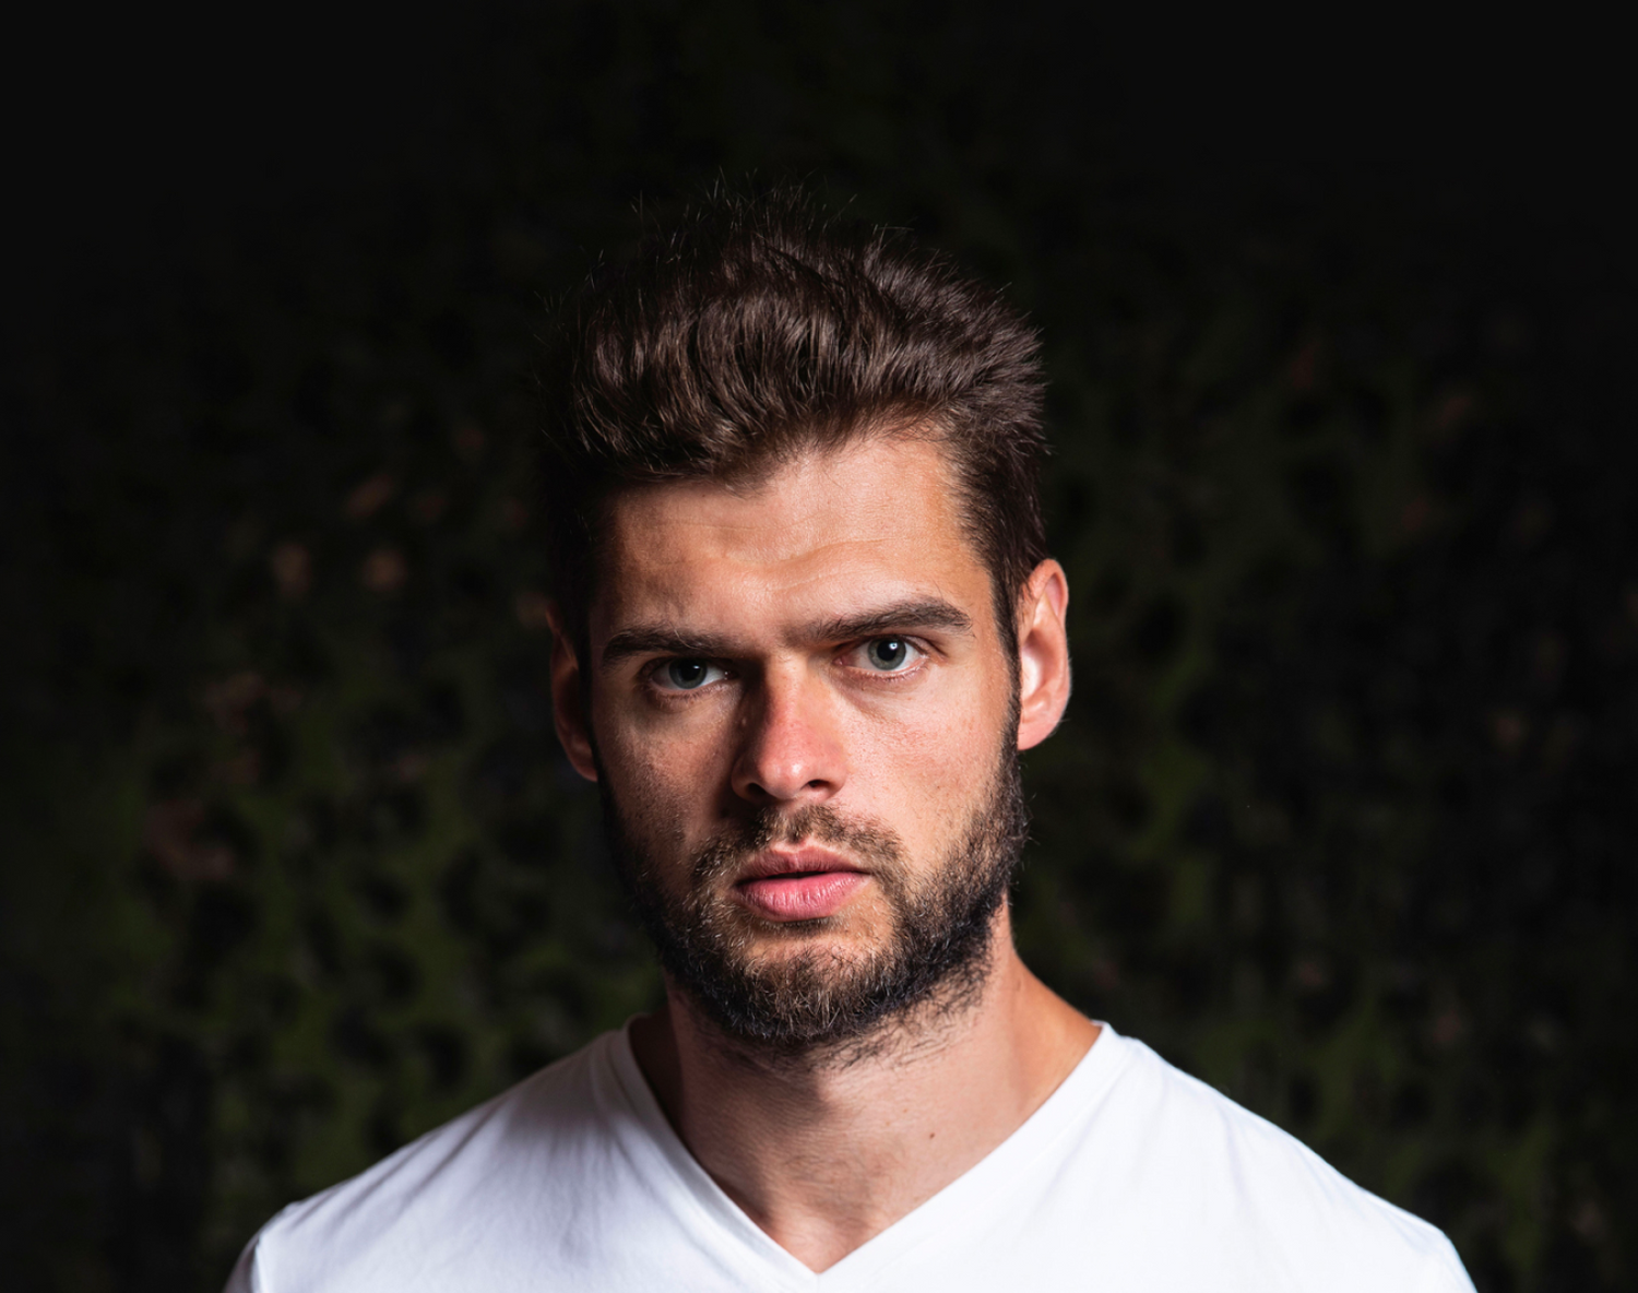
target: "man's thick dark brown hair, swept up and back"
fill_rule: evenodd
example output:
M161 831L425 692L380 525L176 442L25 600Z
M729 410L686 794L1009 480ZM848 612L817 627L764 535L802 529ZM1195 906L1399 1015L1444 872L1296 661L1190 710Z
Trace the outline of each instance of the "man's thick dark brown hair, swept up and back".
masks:
M621 490L755 479L871 434L940 444L1011 644L1045 557L1043 379L1001 297L893 229L798 192L717 195L598 267L541 367L554 593L585 659L598 534Z

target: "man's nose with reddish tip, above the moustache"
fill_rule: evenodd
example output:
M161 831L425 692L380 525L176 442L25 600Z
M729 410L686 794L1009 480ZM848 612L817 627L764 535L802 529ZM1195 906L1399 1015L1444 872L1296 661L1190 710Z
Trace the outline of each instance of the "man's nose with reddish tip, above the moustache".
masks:
M806 806L847 782L834 698L803 670L770 670L749 705L734 759L734 793L758 806Z

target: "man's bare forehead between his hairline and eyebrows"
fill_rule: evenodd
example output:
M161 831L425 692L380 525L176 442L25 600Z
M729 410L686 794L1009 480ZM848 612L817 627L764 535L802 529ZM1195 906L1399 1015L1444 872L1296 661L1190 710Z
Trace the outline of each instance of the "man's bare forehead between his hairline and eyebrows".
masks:
M953 472L930 439L871 436L752 483L649 485L616 497L606 519L595 636L629 618L778 619L903 595L988 598Z

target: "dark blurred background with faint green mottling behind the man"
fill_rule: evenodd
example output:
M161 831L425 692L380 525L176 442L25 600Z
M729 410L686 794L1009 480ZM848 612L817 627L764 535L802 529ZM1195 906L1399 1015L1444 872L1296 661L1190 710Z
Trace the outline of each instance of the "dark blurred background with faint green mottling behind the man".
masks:
M257 1224L655 1000L550 736L531 338L803 179L1040 324L1078 687L1029 960L1456 1241L1627 1286L1610 33L1038 3L61 10L7 44L0 1270Z

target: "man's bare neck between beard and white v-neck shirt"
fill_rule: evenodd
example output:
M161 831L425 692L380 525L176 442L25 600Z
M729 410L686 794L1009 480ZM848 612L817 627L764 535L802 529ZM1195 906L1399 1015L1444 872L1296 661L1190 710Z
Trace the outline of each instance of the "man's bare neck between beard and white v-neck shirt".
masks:
M1017 1131L1097 1026L1019 960L1002 906L978 993L862 1042L808 1055L724 1046L675 985L631 1037L699 1165L786 1252L826 1270Z

